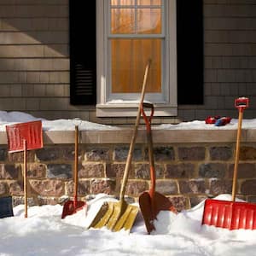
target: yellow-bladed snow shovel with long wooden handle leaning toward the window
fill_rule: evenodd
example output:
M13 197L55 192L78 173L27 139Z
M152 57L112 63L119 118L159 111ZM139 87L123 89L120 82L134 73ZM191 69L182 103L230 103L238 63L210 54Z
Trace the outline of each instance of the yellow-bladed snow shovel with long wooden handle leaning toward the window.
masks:
M125 195L125 186L128 180L128 175L131 167L131 160L133 149L135 146L136 138L137 138L137 130L140 121L140 106L143 104L146 84L148 79L148 69L150 67L151 61L148 61L147 67L145 69L144 79L143 79L143 89L141 94L141 99L139 102L139 107L137 110L137 119L136 124L133 130L133 136L131 138L131 144L125 164L125 172L123 181L121 184L120 194L119 194L119 201L118 202L105 202L100 211L97 212L96 217L93 219L92 223L90 224L89 228L100 229L103 226L106 226L108 230L119 231L119 230L127 230L130 231L131 227L137 217L138 207L128 205L124 199Z

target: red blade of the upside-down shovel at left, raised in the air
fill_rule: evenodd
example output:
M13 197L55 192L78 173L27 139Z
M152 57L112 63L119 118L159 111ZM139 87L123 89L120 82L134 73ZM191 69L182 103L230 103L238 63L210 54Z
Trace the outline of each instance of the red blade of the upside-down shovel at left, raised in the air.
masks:
M6 125L9 152L23 151L23 141L26 149L43 148L42 121L32 121L15 125Z

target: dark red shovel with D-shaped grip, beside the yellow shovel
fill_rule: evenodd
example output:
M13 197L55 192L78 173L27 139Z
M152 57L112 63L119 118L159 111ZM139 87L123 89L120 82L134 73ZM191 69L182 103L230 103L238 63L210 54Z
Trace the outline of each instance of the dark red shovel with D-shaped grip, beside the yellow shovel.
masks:
M144 112L144 108L151 108L151 114L147 117ZM143 114L143 119L146 123L147 131L147 141L148 141L148 160L150 164L150 179L151 179L151 188L149 191L143 192L139 196L139 205L141 212L143 214L144 222L148 230L148 234L154 228L154 219L156 219L157 214L160 211L171 211L177 213L175 207L173 207L172 202L165 196L155 191L155 171L154 171L154 155L153 155L153 141L152 141L152 132L151 132L151 119L154 115L154 105L151 103L141 104L141 113Z

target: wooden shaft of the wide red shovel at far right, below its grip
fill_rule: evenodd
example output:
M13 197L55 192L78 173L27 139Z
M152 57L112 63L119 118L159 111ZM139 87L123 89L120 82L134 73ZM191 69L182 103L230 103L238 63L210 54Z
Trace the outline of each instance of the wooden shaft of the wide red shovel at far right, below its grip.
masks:
M233 186L232 186L232 201L236 201L236 184L237 184L237 170L239 163L239 154L240 154L240 138L241 138L241 120L242 120L243 112L239 110L238 117L238 128L237 128L237 136L236 136L236 157L235 157L235 166L234 166L234 174L233 174Z

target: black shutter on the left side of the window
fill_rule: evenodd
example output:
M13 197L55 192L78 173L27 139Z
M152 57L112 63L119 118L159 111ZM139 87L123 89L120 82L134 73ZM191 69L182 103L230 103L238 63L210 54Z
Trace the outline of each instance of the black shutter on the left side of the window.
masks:
M96 104L96 1L69 0L70 102Z

